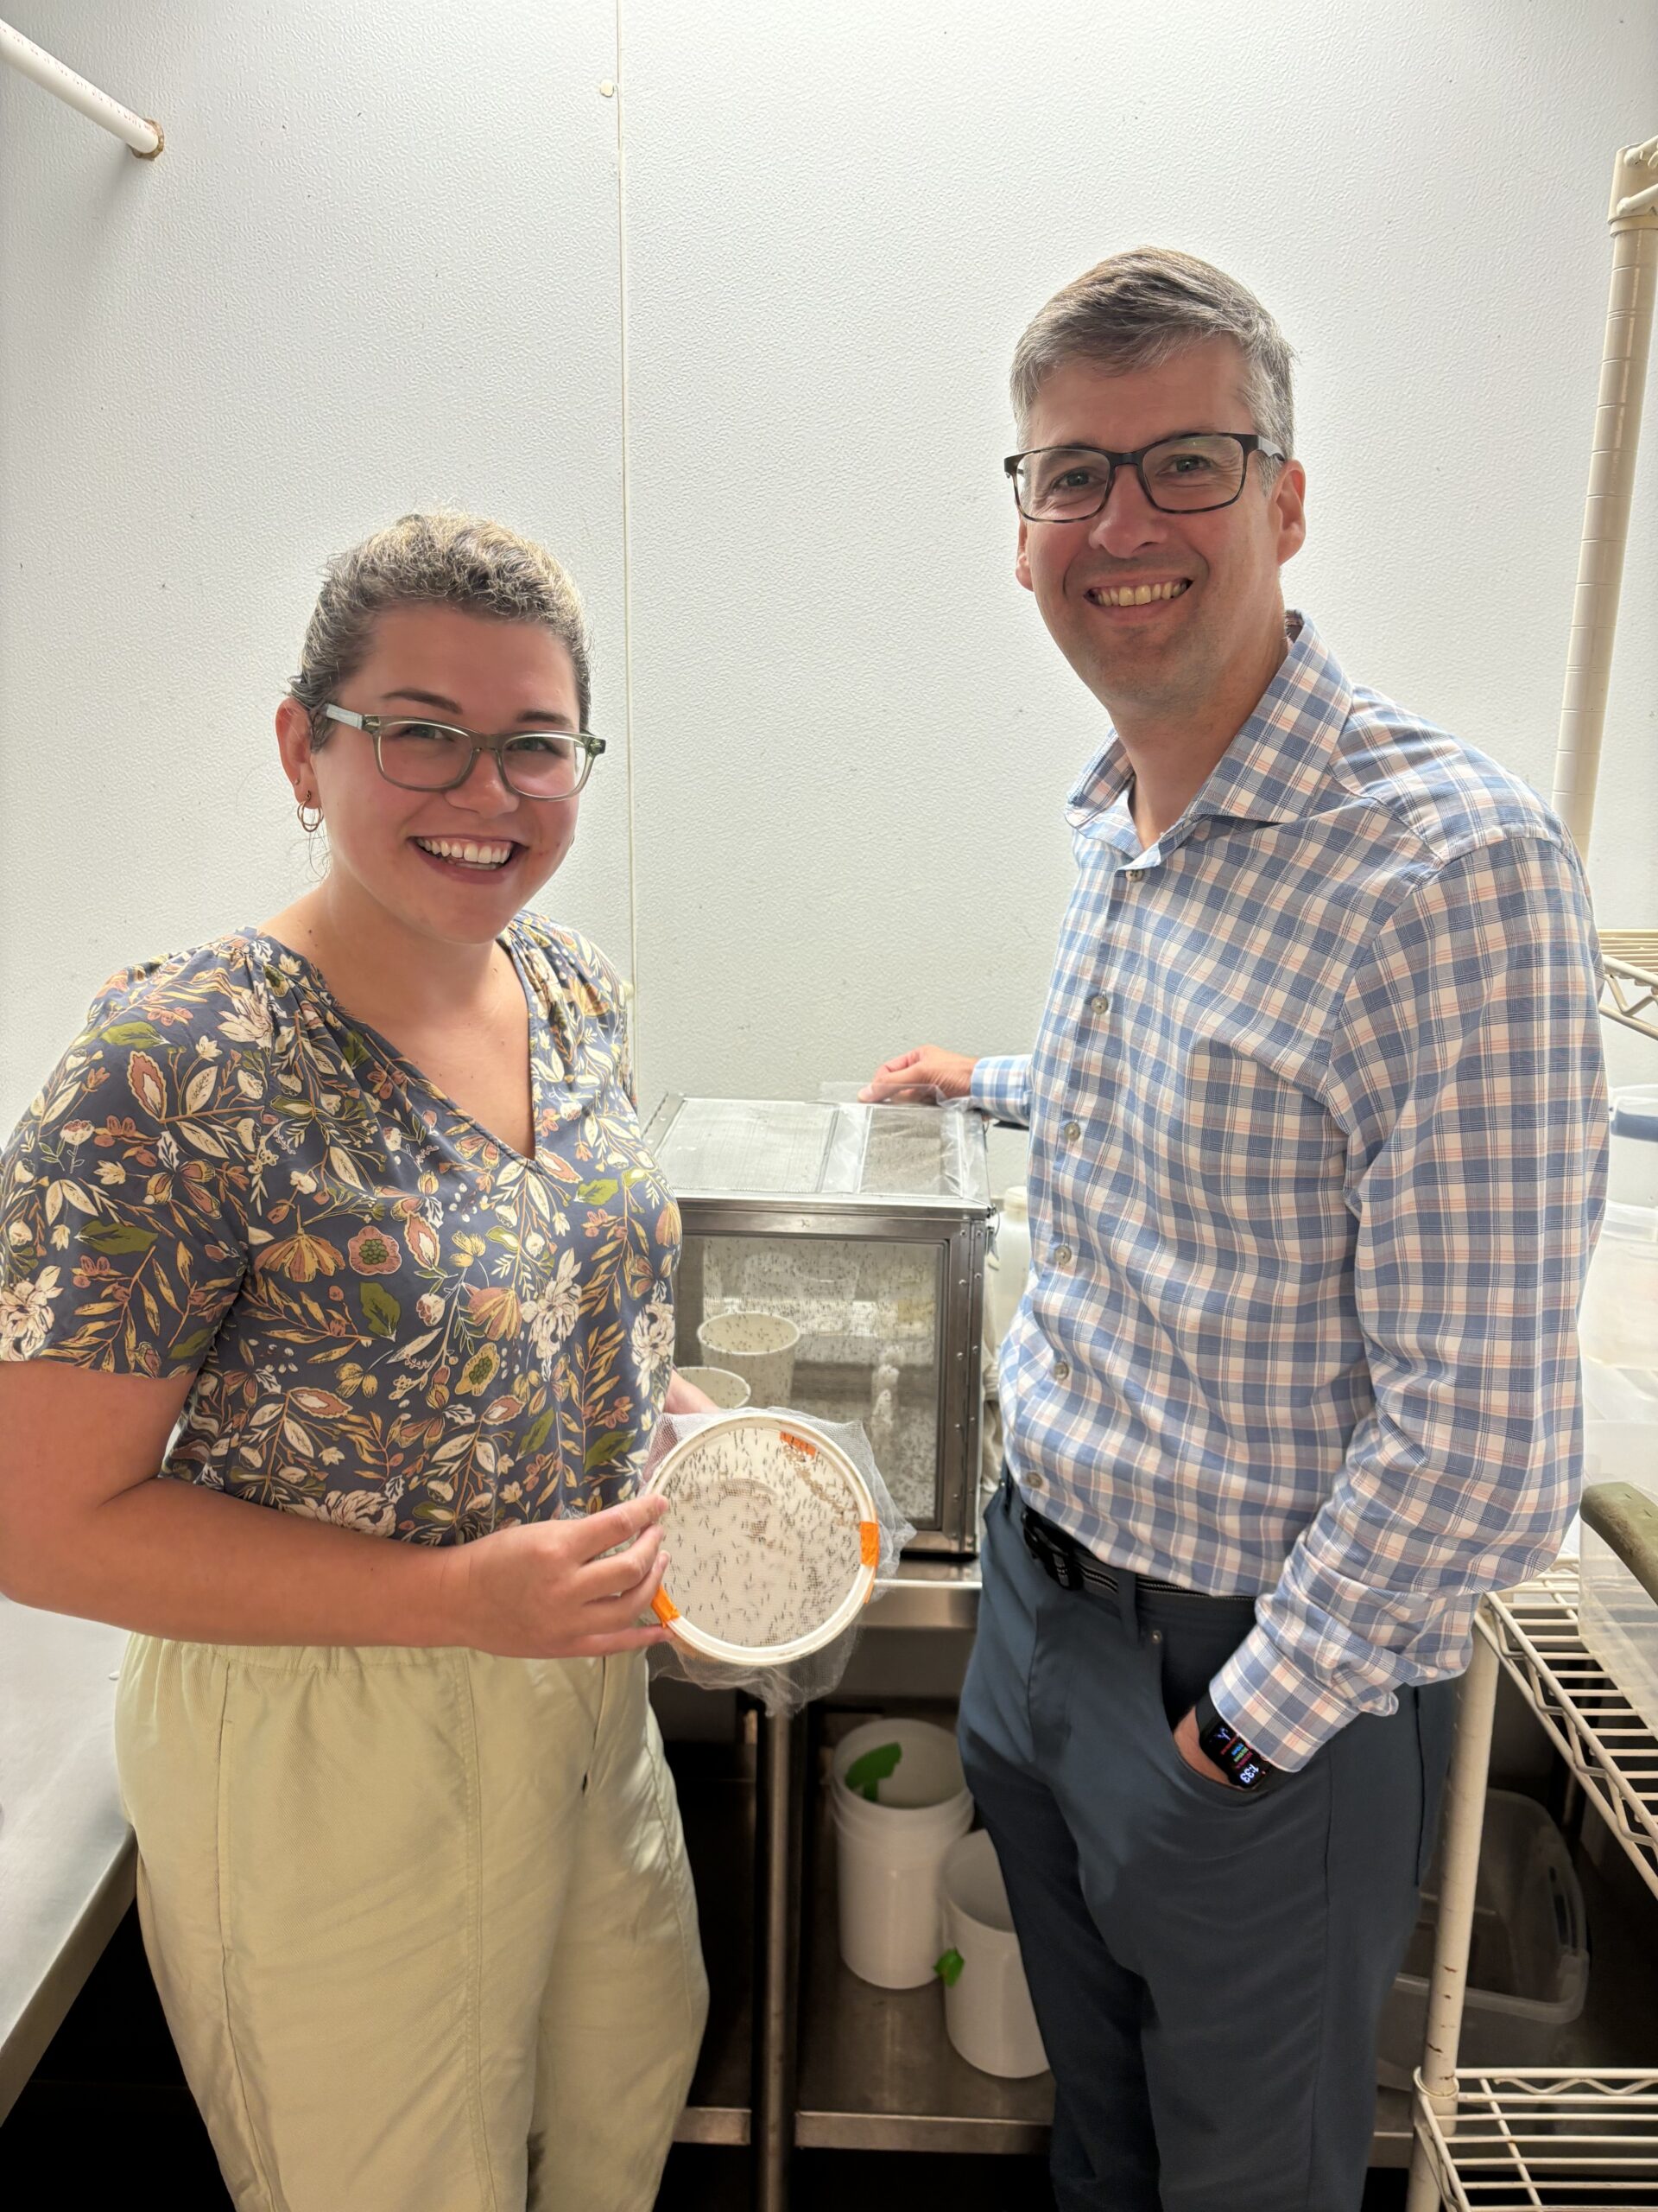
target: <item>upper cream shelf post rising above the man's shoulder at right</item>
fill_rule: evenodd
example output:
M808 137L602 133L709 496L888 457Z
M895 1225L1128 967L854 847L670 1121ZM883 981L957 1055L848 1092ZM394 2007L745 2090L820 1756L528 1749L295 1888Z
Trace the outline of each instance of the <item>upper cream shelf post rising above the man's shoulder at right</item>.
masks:
M1623 551L1629 540L1629 491L1636 480L1640 400L1647 385L1654 294L1658 292L1658 206L1651 170L1658 139L1625 146L1612 170L1612 303L1601 356L1601 398L1583 511L1572 639L1565 650L1561 743L1554 754L1554 810L1578 852L1589 843L1601 732L1607 719L1612 639L1618 626Z

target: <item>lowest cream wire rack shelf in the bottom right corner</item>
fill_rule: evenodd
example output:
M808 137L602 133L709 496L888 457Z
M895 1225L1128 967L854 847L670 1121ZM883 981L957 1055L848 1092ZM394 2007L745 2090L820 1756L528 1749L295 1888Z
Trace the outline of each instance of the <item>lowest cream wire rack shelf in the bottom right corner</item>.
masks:
M1430 2106L1419 2106L1417 2128L1452 2212L1658 2205L1658 2073L1461 2068L1455 2132Z

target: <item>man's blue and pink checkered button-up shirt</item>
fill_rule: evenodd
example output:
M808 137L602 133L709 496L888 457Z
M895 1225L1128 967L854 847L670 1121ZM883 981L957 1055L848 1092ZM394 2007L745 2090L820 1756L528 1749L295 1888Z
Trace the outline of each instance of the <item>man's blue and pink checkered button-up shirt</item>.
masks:
M1304 617L1154 847L1108 743L1030 1055L1024 1495L1096 1557L1258 1595L1211 1686L1300 1767L1468 1663L1576 1502L1605 1197L1598 953L1561 823Z

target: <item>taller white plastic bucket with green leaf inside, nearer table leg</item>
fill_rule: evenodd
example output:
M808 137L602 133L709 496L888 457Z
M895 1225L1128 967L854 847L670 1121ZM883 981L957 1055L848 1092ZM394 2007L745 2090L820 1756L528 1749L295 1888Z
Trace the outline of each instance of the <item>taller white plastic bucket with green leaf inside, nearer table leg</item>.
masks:
M940 1953L940 1867L973 1823L955 1739L926 1721L853 1728L836 1745L829 1798L840 1955L878 1989L920 1989Z

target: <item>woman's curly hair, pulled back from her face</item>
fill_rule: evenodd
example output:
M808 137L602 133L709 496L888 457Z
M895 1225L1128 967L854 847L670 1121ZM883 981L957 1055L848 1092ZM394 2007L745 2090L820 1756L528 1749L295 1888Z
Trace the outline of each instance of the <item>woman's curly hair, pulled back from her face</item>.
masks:
M334 728L321 710L363 666L374 619L389 606L458 606L493 622L533 622L548 630L570 655L586 730L592 695L588 624L570 577L533 538L482 515L438 511L402 515L349 553L338 553L323 571L298 675L287 686L309 708L312 743L321 745Z

